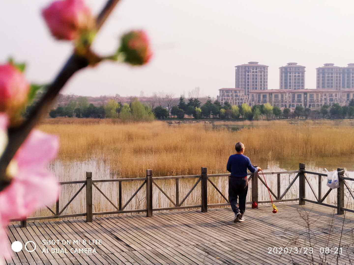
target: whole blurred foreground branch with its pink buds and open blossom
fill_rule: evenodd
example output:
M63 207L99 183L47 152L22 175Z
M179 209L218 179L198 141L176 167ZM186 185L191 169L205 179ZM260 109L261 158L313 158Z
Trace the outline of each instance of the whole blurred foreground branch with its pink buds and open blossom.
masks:
M2 258L11 257L5 230L9 220L23 219L58 198L59 185L46 170L58 152L58 138L33 129L56 95L76 71L102 60L143 65L151 59L149 40L142 30L124 34L110 56L100 57L91 50L97 31L118 2L108 0L96 18L84 0L58 0L42 10L52 36L72 41L75 49L26 119L21 112L40 86L26 80L24 64L12 59L0 64L0 264Z

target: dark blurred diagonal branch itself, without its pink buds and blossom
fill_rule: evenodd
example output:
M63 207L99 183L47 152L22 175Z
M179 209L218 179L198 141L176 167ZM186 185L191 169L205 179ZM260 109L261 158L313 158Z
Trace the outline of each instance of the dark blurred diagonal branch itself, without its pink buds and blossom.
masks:
M109 0L99 13L96 19L97 31L102 27L109 14L113 11L119 0ZM6 168L18 148L27 138L30 131L45 116L51 108L56 96L64 87L65 83L74 75L75 72L89 65L86 58L75 55L69 57L62 70L58 73L55 80L48 86L47 92L38 101L29 117L19 126L8 130L8 145L0 158L0 191L3 190L11 179L6 178Z

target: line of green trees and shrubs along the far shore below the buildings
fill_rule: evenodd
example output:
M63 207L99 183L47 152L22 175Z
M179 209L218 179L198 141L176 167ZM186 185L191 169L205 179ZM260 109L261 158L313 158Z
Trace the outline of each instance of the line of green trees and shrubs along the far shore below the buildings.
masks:
M28 106L26 113L29 113L31 106ZM281 118L352 118L354 117L354 99L348 106L340 106L338 103L332 106L323 105L320 110L311 110L297 106L294 111L290 108L281 110L279 107L272 106L269 103L254 105L250 107L248 104L230 105L225 101L212 102L208 97L205 104L201 104L198 98L189 98L186 102L183 95L178 101L172 102L169 107L158 105L154 108L141 103L134 98L127 103L121 103L114 99L108 100L107 103L95 106L84 96L71 99L67 104L59 104L49 112L51 118L56 117L77 117L77 118L112 118L122 120L154 120L165 118L219 118L219 119L281 119Z

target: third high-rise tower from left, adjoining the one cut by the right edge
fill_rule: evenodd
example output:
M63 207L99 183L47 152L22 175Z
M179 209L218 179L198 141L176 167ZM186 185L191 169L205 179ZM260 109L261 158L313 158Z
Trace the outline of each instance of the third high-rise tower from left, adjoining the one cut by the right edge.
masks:
M316 88L341 89L344 87L345 67L334 66L334 64L324 64L316 68Z

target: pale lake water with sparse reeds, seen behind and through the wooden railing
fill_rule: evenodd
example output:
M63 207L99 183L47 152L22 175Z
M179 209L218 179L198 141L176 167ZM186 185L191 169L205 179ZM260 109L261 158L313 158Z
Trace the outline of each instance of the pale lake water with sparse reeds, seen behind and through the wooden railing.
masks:
M263 168L263 172L267 171L285 171L285 170L298 170L298 163L284 163L279 162L267 162L259 163ZM313 172L326 173L324 167L327 167L329 171L336 170L337 167L344 167L345 175L347 177L354 178L354 171L352 165L347 163L346 165L336 165L335 161L331 161L328 165L324 163L307 163L306 170ZM85 180L86 171L92 172L92 179L109 179L117 178L117 176L112 176L110 171L109 164L105 164L99 160L87 160L85 162L74 162L74 163L62 163L59 160L54 161L50 166L49 170L52 171L57 177L58 181L74 181L74 180ZM153 175L154 176L154 175ZM281 174L281 194L289 186L289 183L296 176L296 173L290 174ZM141 177L145 177L145 170L142 169ZM262 175L261 175L262 177ZM307 174L307 178L312 184L316 195L318 192L318 177L316 175ZM263 178L263 177L262 177ZM277 175L265 175L265 179L268 183L270 189L277 194ZM219 190L227 197L228 189L228 177L212 177L211 180L218 187ZM326 186L326 177L322 177L322 196L324 196L328 190ZM184 196L188 193L190 188L194 185L196 179L179 179L179 201L182 201ZM122 204L124 205L131 195L137 190L137 188L143 183L143 181L134 181L134 182L122 182ZM164 190L164 192L175 201L175 179L165 179L165 180L156 180L156 183ZM347 181L347 184L350 189L354 190L354 182ZM96 183L99 189L118 207L118 182L104 182ZM82 184L65 184L61 185L61 194L59 195L59 211L63 206L69 201L70 198L76 193L77 190L82 186ZM247 201L251 201L251 187L247 195ZM346 190L346 189L345 189ZM76 196L73 202L64 210L63 214L74 214L86 212L86 196L85 188ZM135 210L135 209L144 209L145 208L145 186L137 193L135 198L126 206L125 210ZM354 192L353 192L354 194ZM292 199L298 198L298 179L292 185L289 192L284 196L283 199ZM308 183L306 183L306 198L310 200L316 200L314 194L312 193ZM269 195L267 188L259 181L258 183L258 199L259 200L269 200ZM273 198L274 199L274 198ZM326 204L335 205L337 200L336 190L327 196L324 200ZM224 203L225 200L222 196L217 193L215 188L208 183L208 203ZM199 205L200 204L200 183L196 186L193 192L185 200L184 205ZM174 205L166 198L162 192L153 185L153 207L173 207ZM345 207L354 208L354 201L348 191L345 192ZM52 209L55 209L55 206L51 206ZM93 212L103 212L103 211L115 211L115 207L111 205L104 196L99 193L99 191L93 187ZM335 210L335 209L333 209ZM37 211L33 216L50 216L51 213L46 208ZM81 218L81 217L80 217Z

